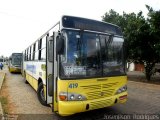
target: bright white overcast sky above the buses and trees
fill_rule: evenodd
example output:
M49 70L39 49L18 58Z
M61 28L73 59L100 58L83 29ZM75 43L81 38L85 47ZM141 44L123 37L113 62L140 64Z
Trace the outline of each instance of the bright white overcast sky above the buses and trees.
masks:
M160 0L0 0L0 56L24 51L62 15L102 20L114 9L147 16L146 4L160 10Z

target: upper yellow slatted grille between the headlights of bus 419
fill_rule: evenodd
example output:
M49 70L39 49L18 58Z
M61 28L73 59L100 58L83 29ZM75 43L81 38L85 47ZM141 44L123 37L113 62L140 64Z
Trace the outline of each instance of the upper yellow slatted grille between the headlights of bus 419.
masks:
M98 84L98 85L88 85L88 86L81 86L87 95L88 100L92 99L99 99L104 97L109 97L114 95L115 93L115 86L118 82L114 83L106 83L106 84Z

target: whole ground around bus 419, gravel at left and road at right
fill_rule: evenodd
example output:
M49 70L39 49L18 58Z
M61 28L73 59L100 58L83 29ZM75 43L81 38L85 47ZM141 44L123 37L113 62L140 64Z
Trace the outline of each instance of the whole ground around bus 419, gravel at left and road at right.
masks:
M136 74L137 75L137 74ZM104 120L108 114L159 114L160 85L128 81L128 101L113 107L60 117L50 107L42 106L35 90L25 84L20 74L7 72L6 85L13 112L9 117L18 120ZM13 116L12 116L13 115Z

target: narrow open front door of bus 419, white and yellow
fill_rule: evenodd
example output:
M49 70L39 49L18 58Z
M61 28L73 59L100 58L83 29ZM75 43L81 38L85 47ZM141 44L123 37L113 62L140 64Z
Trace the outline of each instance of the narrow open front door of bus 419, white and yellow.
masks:
M52 110L57 111L57 61L55 50L55 36L47 36L47 80L46 80L46 99L47 104L52 104Z

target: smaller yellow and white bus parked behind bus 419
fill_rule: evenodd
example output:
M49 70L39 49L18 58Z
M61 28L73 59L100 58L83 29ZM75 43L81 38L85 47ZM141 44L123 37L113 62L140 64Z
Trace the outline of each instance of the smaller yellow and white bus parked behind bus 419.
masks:
M22 53L12 53L9 57L9 71L20 73L21 72Z

